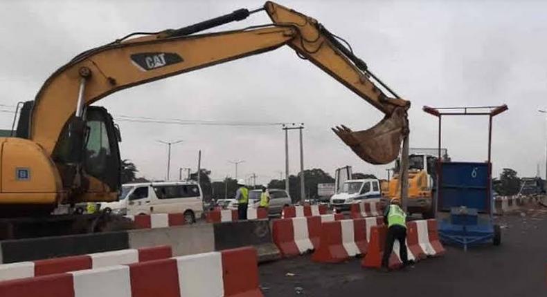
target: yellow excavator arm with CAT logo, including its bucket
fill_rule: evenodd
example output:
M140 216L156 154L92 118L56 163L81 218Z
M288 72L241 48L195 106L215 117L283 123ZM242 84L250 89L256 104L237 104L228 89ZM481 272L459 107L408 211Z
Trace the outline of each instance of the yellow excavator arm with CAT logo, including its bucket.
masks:
M239 21L260 10L265 10L273 23L242 30L195 34L230 21ZM75 149L82 148L89 141L89 133L84 131L82 123L86 122L88 113L91 115L89 105L93 102L124 88L260 54L284 45L293 48L299 57L311 61L385 114L379 124L366 131L354 132L346 126L334 128L341 140L359 157L372 164L395 160L402 139L408 133L406 111L410 103L400 99L379 81L364 61L355 57L352 50L343 46L338 37L321 23L273 2L265 3L258 10L236 10L229 15L177 30L135 33L82 52L46 80L35 98L29 117L21 119L19 126L26 127L23 136L38 144L58 168L75 166L75 171L81 171L78 162L82 162L83 153L75 158L62 154L74 153ZM381 88L391 93L391 97ZM28 122L21 125L21 121ZM69 140L75 141L67 146L66 142L71 142ZM78 172L73 175L77 176ZM63 180L66 188L66 178ZM82 183L75 184L82 188ZM75 184L70 187L74 188ZM96 191L101 191L100 178L94 182L91 178L91 183L84 186L87 189L80 189L79 194L85 195L93 184ZM116 186L102 185L102 191L114 192L114 188ZM78 200L82 199L72 199Z

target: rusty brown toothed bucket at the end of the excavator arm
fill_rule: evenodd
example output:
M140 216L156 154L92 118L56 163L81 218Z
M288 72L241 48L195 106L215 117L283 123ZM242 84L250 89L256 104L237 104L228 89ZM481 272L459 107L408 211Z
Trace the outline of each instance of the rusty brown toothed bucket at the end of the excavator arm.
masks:
M368 130L354 132L341 125L332 131L366 162L388 164L399 155L402 140L409 130L406 111L397 108Z

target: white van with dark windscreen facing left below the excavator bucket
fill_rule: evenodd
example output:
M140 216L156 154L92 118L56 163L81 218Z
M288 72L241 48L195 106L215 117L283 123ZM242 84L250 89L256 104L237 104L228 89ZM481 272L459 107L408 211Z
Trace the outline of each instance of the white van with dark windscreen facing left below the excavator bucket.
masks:
M382 193L378 180L346 180L338 193L330 198L330 205L337 211L350 210L351 204L365 202L380 202Z

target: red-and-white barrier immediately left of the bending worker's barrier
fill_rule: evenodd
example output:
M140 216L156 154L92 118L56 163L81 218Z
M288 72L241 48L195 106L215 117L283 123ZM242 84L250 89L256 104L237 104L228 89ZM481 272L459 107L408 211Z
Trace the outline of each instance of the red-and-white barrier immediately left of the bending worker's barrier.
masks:
M352 256L366 253L366 222L364 219L323 222L319 247L312 260L316 262L341 262Z

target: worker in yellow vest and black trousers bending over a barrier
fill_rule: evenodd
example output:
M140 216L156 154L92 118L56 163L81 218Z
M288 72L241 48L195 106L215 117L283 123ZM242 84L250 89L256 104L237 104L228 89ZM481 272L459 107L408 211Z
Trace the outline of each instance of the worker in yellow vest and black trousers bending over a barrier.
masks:
M392 198L391 204L384 209L384 222L388 224L386 245L384 245L384 256L382 258L382 269L389 270L388 260L393 251L393 243L399 240L399 255L404 267L411 264L406 253L406 213L401 208L401 200Z

